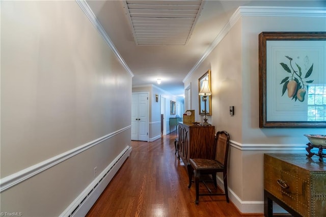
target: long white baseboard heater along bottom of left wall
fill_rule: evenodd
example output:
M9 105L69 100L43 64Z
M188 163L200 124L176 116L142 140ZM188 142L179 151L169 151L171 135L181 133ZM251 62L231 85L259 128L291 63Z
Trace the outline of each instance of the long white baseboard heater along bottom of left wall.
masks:
M131 149L131 147L127 146L60 216L85 216L104 191L107 184L110 183L118 172L123 162L129 157Z

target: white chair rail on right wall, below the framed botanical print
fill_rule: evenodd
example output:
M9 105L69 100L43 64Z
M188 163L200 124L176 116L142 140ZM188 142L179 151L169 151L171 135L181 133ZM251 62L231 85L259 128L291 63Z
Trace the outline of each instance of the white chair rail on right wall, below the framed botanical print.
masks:
M241 151L303 151L307 147L304 144L241 144L232 140L230 146Z

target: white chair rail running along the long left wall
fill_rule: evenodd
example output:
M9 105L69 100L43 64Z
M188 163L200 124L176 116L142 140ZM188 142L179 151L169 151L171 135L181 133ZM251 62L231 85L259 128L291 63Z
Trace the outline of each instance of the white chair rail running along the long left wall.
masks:
M107 139L110 139L110 138L114 137L115 135L117 135L129 128L131 128L131 125L129 125L125 128L119 129L115 132L109 133L107 135L104 135L103 137L100 137L100 138L93 140L89 143L86 143L84 145L78 146L78 147L71 149L69 151L66 151L62 154L59 154L57 156L54 156L47 160L39 162L36 165L25 168L25 169L23 169L17 173L11 174L5 178L2 178L2 179L0 179L0 192L6 191L6 189L8 189L26 179L29 179L29 178L43 172L44 170L47 170L53 166L56 166L56 165L60 164L62 161L66 160L70 157L73 157L87 149L90 149L93 146L100 144L101 142L103 142Z

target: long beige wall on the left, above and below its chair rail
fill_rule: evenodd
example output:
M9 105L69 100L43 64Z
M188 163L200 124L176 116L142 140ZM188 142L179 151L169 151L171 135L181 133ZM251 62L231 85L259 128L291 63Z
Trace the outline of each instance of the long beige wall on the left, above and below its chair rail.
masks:
M3 191L1 212L60 215L130 145L130 107L131 75L76 2L1 2L1 179L120 131Z

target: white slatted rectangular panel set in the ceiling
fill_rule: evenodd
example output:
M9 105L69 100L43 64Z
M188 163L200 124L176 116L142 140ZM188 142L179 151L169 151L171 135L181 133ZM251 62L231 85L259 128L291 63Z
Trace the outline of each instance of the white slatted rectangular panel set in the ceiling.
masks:
M203 8L202 1L124 1L137 45L185 45Z

